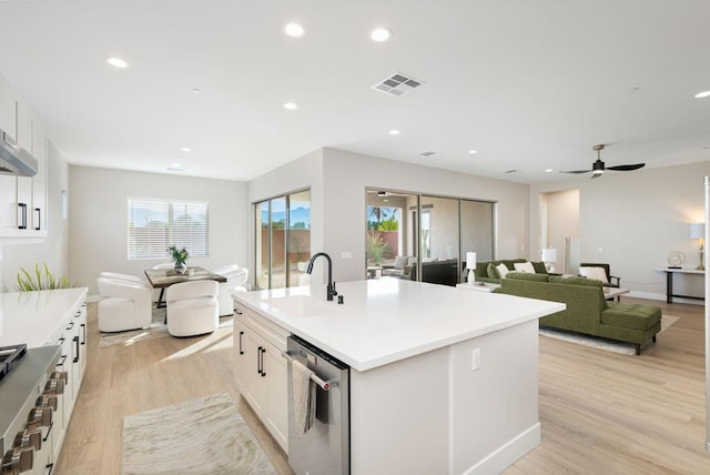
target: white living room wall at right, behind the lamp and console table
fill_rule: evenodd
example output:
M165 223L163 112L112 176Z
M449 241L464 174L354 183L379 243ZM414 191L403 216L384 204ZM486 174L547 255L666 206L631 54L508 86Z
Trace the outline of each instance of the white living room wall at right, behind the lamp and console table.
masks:
M531 185L530 247L539 250L539 193L578 189L581 261L608 262L632 295L665 300L666 276L655 269L668 265L668 252L684 253L683 266L698 265L690 223L703 222L702 181L708 174L706 161ZM702 295L701 277L677 279L676 293Z

